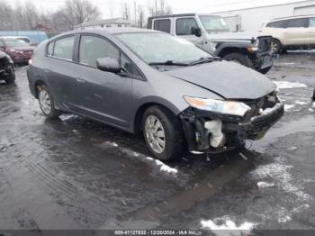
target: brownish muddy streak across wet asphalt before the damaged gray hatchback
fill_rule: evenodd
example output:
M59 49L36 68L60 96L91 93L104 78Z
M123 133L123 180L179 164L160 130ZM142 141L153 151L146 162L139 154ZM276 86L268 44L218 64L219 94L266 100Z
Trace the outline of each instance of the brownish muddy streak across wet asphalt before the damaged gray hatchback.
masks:
M257 155L255 152L247 151L247 160L240 156L233 157L223 168L220 167L211 171L203 178L199 186L179 192L166 200L149 204L139 211L121 217L121 219L109 220L105 224L109 223L111 227L117 227L117 229L124 229L124 227L126 229L131 227L132 229L133 226L139 227L139 225L136 225L137 222L148 221L148 219L152 222L161 222L166 216L175 216L183 211L188 211L195 204L206 201L211 196L219 193L221 187L255 168L253 158ZM132 225L133 223L134 225ZM102 228L109 226L105 224ZM156 227L156 225L154 226Z

